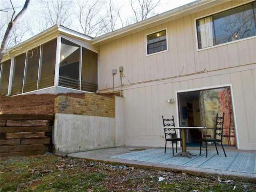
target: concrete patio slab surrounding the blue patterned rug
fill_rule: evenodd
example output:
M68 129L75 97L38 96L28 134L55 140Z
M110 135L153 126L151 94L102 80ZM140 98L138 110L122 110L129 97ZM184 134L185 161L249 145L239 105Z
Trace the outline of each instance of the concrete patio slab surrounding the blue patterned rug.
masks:
M175 164L165 164L165 163L156 163L156 162L147 162L143 160L128 160L124 158L118 158L118 155L122 156L123 154L134 153L134 152L140 152L143 150L148 149L159 149L163 150L163 148L152 148L152 147L141 147L141 146L121 146L117 148L106 148L106 149L100 149L100 150L92 150L92 151L86 151L86 152L78 152L78 153L72 153L68 154L68 156L77 157L77 158L84 158L87 160L93 160L98 162L105 162L110 164L120 164L120 165L126 165L126 166L134 166L137 168L150 168L150 169L159 169L159 170L168 170L172 172L181 172L186 174L193 174L193 175L212 175L212 176L228 176L229 178L241 178L243 180L255 180L256 174L254 173L254 170L256 169L256 162L255 158L246 159L247 162L250 163L250 168L252 169L252 173L246 173L246 172L237 172L237 171L227 171L227 170L218 170L216 169L216 160L213 162L213 158L208 155L208 158L205 158L205 153L202 153L202 158L205 158L208 161L208 168L198 168L196 166L182 166L182 165L175 165ZM181 150L181 149L179 149ZM188 147L187 150L198 151L199 148L190 148ZM208 151L216 153L215 148L209 148ZM252 155L253 157L256 156L256 150L237 150L235 148L225 148L225 151L228 155L228 153L244 153L247 155ZM202 152L205 152L205 149L202 149ZM221 153L223 153L221 150L219 150L219 156L221 160ZM166 151L166 156L169 156L172 158L171 150L168 149ZM111 158L112 157L112 158ZM114 157L114 158L113 158ZM175 157L175 158L184 158L181 156ZM186 157L187 158L187 157ZM187 158L188 159L188 158ZM218 159L218 156L216 156L216 159ZM178 159L181 160L181 159ZM211 162L212 160L212 162ZM221 162L219 162L221 163ZM252 167L252 166L253 167ZM210 167L209 167L210 166ZM212 167L211 167L212 166Z

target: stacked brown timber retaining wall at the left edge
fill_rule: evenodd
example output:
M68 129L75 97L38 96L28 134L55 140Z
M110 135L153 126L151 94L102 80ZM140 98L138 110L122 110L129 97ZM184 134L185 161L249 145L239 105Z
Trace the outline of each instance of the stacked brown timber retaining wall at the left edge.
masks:
M51 152L52 115L1 114L1 157Z

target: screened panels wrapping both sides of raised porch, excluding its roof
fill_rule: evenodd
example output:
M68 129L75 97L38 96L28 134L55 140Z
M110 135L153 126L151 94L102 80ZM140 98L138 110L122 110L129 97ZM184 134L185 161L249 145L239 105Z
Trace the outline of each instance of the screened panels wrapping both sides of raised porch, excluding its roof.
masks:
M58 42L60 49L57 49ZM56 55L60 58L56 58ZM60 62L56 63L56 60ZM10 71L11 69L13 70ZM8 90L9 84L10 90ZM78 42L74 43L59 36L1 62L1 96L17 95L44 88L53 88L52 90L56 91L54 86L96 92L98 53L79 45Z

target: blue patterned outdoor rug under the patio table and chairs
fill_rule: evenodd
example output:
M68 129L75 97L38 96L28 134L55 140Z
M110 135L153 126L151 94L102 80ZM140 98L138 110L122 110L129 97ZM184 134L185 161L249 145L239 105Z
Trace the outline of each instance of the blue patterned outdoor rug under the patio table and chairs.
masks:
M178 150L178 152L180 151ZM199 150L188 150L188 152L196 156L191 158L184 155L174 157L172 150L166 150L166 154L164 154L164 149L153 148L110 156L110 158L256 174L256 153L226 152L227 157L225 157L223 151L219 152L219 155L216 151L208 151L206 158L205 151L202 151L201 156L199 156Z

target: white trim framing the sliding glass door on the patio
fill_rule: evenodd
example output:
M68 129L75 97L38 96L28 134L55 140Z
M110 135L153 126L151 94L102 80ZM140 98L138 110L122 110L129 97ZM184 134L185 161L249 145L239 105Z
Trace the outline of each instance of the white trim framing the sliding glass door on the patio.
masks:
M209 87L202 87L202 88L178 90L178 91L175 92L175 97L176 97L176 101L178 101L178 94L179 93L192 92L192 91L200 91L200 90L208 90L208 89L216 89L216 88L223 88L223 87L230 87L230 94L231 94L231 98L232 98L231 99L231 103L232 103L232 109L233 109L233 115L234 115L236 147L237 147L237 149L240 149L239 140L238 140L238 130L237 130L237 124L236 124L236 110L235 110L235 104L234 104L234 95L233 95L232 84L224 84L224 85L218 85L218 86L209 86ZM176 114L177 114L178 123L180 124L178 102L176 102Z

